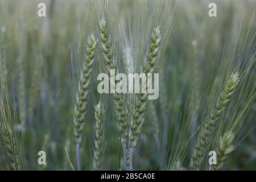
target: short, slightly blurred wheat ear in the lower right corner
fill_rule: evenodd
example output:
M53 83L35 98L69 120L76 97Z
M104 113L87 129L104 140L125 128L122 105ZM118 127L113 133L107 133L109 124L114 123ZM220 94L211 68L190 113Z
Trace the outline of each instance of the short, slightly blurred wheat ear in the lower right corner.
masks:
M234 151L234 146L232 145L234 140L234 134L232 131L226 132L220 139L218 140L218 148L217 152L217 164L213 165L213 170L220 171L223 169L226 160L228 159L228 155Z

